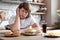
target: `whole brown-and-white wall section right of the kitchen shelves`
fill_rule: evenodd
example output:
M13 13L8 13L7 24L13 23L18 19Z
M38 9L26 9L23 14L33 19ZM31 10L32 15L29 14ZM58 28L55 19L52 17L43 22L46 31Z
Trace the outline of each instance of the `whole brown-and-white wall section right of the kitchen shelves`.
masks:
M60 4L60 1L46 0L45 2L47 4L47 8L48 8L47 15L46 15L46 21L48 23L48 26L52 26L57 21L56 20L56 15L57 15L56 10L58 9L58 2Z

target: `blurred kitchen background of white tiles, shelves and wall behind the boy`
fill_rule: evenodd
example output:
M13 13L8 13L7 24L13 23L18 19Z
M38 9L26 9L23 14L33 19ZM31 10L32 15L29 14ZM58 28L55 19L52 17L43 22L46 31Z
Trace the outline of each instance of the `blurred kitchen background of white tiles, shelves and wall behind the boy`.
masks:
M9 25L9 19L16 15L16 8L22 2L30 3L31 14L39 25L41 25L42 20L45 20L48 27L56 26L60 0L0 0L0 13L2 11L5 15L5 20L0 23L0 29L6 29L5 27Z

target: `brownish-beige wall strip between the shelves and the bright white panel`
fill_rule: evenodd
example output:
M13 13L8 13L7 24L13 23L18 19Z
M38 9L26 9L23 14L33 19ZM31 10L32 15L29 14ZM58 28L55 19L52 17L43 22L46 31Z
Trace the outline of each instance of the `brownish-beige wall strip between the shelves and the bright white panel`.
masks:
M51 0L46 0L45 3L48 9L46 14L47 25L51 26Z

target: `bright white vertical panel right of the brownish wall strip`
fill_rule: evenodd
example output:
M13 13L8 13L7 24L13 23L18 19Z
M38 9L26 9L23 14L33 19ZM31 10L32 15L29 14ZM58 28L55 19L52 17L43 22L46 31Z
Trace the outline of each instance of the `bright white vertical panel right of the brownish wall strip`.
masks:
M57 21L58 0L51 0L51 22L54 24Z

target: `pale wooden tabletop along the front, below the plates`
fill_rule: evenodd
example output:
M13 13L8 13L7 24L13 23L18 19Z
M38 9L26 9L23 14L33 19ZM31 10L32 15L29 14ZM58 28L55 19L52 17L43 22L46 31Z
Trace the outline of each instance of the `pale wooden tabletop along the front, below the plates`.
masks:
M4 32L6 31L4 30ZM47 37L41 36L40 34L37 36L20 35L19 37L4 37L4 33L0 33L0 38L4 40L60 40L60 38L47 38Z

